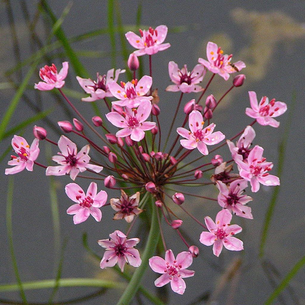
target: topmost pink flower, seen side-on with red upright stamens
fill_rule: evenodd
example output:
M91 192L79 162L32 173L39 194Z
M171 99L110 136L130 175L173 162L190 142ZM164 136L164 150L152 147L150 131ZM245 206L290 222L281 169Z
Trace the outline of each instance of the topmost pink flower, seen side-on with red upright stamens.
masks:
M131 31L125 34L128 42L134 48L139 49L134 52L136 56L156 54L170 47L169 43L162 43L167 35L167 26L165 25L159 25L155 29L149 27L147 31L140 29L139 32L141 37Z

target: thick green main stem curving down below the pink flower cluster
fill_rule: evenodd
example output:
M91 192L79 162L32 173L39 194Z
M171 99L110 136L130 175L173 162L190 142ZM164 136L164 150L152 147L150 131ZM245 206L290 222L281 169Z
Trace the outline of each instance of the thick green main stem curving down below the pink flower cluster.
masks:
M151 221L151 226L150 226L146 246L142 254L142 264L140 265L140 267L136 269L123 295L121 296L120 300L117 302L117 305L128 305L131 302L132 298L135 296L136 292L139 289L139 286L141 284L141 279L148 266L148 260L155 253L157 246L156 241L159 240L160 230L157 220L157 214L156 214L157 212L155 207L153 206L154 205L153 199L151 199L151 205L152 205L151 207L152 221Z

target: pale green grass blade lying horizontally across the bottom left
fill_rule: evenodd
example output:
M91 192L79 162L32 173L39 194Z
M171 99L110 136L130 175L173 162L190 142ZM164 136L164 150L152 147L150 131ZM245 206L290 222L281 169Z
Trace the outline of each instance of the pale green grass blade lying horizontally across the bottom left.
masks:
M53 288L56 284L56 280L41 280L24 282L23 289L45 289ZM124 289L126 285L117 281L106 281L97 278L61 278L59 280L59 287L98 287L98 288L114 288ZM0 292L17 291L19 289L18 284L5 284L0 285Z

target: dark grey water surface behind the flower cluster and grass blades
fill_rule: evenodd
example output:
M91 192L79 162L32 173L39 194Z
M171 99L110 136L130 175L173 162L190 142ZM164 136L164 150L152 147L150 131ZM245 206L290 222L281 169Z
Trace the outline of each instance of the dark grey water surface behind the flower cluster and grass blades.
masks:
M31 16L35 13L36 1L26 1ZM14 20L17 26L18 41L22 59L31 54L30 36L26 30L20 3L11 2L13 7ZM67 5L66 1L50 2L52 9L59 17L62 10ZM135 22L136 2L126 1L121 3L124 24ZM243 11L241 11L241 9ZM168 34L166 42L170 42L171 47L153 56L153 79L154 86L159 88L160 108L162 110L161 124L164 130L170 125L168 116L173 112L178 102L179 93L165 93L164 89L170 80L168 77L167 63L174 60L181 67L188 64L192 67L197 63L198 57L205 58L207 41L215 41L221 44L225 52L233 53L233 59L244 60L247 68L242 72L246 74L246 84L235 90L235 94L224 101L222 107L215 114L214 122L217 130L231 137L241 130L252 119L244 114L244 109L249 106L247 91L254 90L258 97L267 95L269 98L291 103L292 92L296 91L296 109L293 114L290 130L285 130L287 113L279 117L281 125L278 129L263 127L258 124L254 126L257 136L255 144L265 148L264 155L267 160L275 163L273 174L277 169L278 143L282 135L289 132L287 150L285 154L285 164L281 179L281 191L277 201L274 215L271 221L271 228L266 244L266 258L284 276L292 266L304 255L304 12L305 2L303 1L226 1L226 2L204 2L204 1L144 1L142 24L147 26L157 26L166 24L169 28L175 26L186 26L187 29L181 33ZM105 1L74 1L70 13L63 23L63 30L68 37L85 33L107 26ZM8 19L5 4L0 3L1 29L0 29L0 81L7 81L4 71L12 67L16 62L13 56L13 43L9 34ZM43 35L42 23L41 35ZM263 29L263 30L262 30ZM265 29L265 30L264 30ZM39 30L38 30L39 32ZM43 36L41 36L43 37ZM93 40L74 44L76 50L98 50L109 51L109 39L106 35L99 36ZM144 58L146 68L148 58ZM111 68L110 58L88 59L81 57L81 62L86 66L89 73L94 76L97 71L105 73ZM56 61L60 66L60 62ZM120 61L118 67L122 67ZM26 73L23 70L23 77ZM148 73L148 70L146 70ZM81 92L74 72L70 69L70 78L67 86ZM122 78L121 78L122 79ZM207 81L208 74L204 81ZM214 86L207 93L219 96L230 85L231 80L226 83L217 77ZM17 81L17 80L16 80ZM33 75L29 84L38 81L38 71ZM1 108L6 109L9 101L14 95L13 90L2 90L0 101ZM28 95L34 100L37 98L34 92L28 90ZM54 105L55 101L48 92L42 93L43 108L47 109ZM184 98L184 102L193 98L192 94ZM91 107L87 103L81 103L74 99L75 105L82 110L86 117L92 116ZM101 106L101 109L105 109ZM21 101L18 105L9 127L15 126L20 120L32 116L34 113ZM180 121L183 120L183 113L180 113ZM65 120L67 117L58 108L51 119ZM40 122L38 125L44 125ZM179 126L179 120L176 127ZM114 130L113 130L114 131ZM30 142L33 138L31 127L24 132L24 137ZM57 135L49 131L50 138L57 141ZM164 139L164 138L163 138ZM6 139L2 143L3 151L9 145L10 140ZM39 161L46 163L45 149L41 142L41 156ZM79 147L82 146L79 142ZM1 150L2 152L2 150ZM53 149L53 154L57 151ZM229 156L228 149L221 151L224 156ZM93 155L93 153L92 153ZM11 267L11 259L8 249L8 242L5 228L5 201L7 194L8 177L4 175L7 159L1 163L1 194L2 213L0 213L0 283L14 283L15 276ZM88 233L88 241L91 248L102 256L103 250L96 240L105 239L108 234L115 229L125 229L123 222L113 222L111 220L113 211L111 208L103 209L103 218L100 223L96 223L92 218L86 222L74 225L72 217L66 214L66 208L71 201L64 193L64 186L70 183L68 177L56 178L58 181L58 203L60 211L60 226L62 239L68 236L68 244L65 251L65 260L62 277L95 277L116 278L108 269L100 272L98 264L90 259L82 246L81 237L83 232ZM88 186L88 181L77 180L84 189ZM52 231L52 217L49 199L49 179L44 176L44 171L34 167L32 173L26 170L14 175L14 204L13 204L13 237L14 248L18 267L23 281L33 281L54 278L54 244ZM103 185L99 185L104 188ZM199 190L197 190L200 192ZM253 220L243 220L234 217L234 223L241 224L243 233L240 238L244 242L243 253L233 251L223 251L219 258L212 254L211 247L197 246L200 255L194 260L192 269L196 274L192 278L186 279L187 289L183 296L174 294L168 289L168 304L188 304L205 292L216 294L216 304L239 304L252 305L263 304L272 291L272 287L267 280L258 260L258 247L260 242L260 232L262 229L264 215L267 210L272 188L262 188L260 192L252 194L247 189L247 194L253 197L251 208ZM203 193L203 192L202 192ZM215 194L214 194L215 195ZM109 191L109 198L119 196L118 192ZM215 217L219 206L203 202L194 198L187 198L187 208L192 210L196 216L203 221L203 217L210 215ZM182 215L182 214L181 214ZM193 221L185 215L181 216L183 227L198 240L202 231ZM134 231L136 234L136 230ZM185 250L182 242L170 230L166 231L168 247L177 254ZM132 234L131 234L132 235ZM131 236L133 237L133 236ZM142 240L144 244L144 240ZM237 274L235 284L229 283L224 290L217 295L216 287L220 287L219 281L222 272L215 270L211 264L217 264L223 271L230 266L235 259L243 259L242 269ZM301 270L291 281L292 289L299 299L299 304L305 304L305 282L304 270ZM156 278L151 270L147 270L147 276L143 280L143 285L155 292L153 280ZM120 278L117 278L120 280ZM169 287L168 287L169 288ZM235 290L234 290L235 289ZM95 288L63 288L59 290L57 300L67 300L76 296L86 295L94 292ZM217 289L216 289L217 290ZM160 292L160 289L159 289ZM234 294L234 300L230 301L230 292ZM50 290L26 291L29 302L46 302ZM166 290L161 290L166 293ZM120 295L119 292L109 290L105 295L90 300L84 304L114 304ZM0 293L0 298L19 300L18 293ZM296 304L287 291L283 295L285 304ZM144 301L145 303L146 301ZM231 303L230 303L231 302ZM137 303L136 301L134 302ZM201 302L199 304L205 304ZM275 304L280 304L275 301Z

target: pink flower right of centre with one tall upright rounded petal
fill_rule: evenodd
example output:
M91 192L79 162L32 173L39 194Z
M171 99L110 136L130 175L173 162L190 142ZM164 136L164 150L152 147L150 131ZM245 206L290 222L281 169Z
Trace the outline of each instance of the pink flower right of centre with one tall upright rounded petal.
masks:
M215 124L212 123L208 127L203 128L203 117L198 110L193 110L188 118L188 125L191 131L183 127L177 128L177 132L186 140L180 140L180 144L186 149L198 148L199 152L207 155L208 149L206 145L214 145L221 142L225 135L220 131L213 132ZM202 129L203 128L203 129Z

